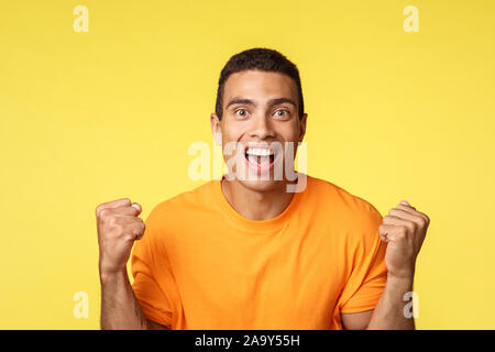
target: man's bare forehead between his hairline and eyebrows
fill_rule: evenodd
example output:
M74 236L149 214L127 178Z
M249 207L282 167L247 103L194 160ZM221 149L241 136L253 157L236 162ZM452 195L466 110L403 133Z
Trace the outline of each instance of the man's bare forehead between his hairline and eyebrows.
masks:
M270 100L292 98L297 101L297 87L294 79L280 73L244 70L229 76L223 87L223 101L233 98Z

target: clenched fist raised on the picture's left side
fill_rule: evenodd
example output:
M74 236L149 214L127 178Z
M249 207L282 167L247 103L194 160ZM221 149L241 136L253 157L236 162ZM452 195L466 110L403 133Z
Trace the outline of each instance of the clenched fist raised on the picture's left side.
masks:
M144 222L139 204L128 198L99 205L96 209L100 275L125 268L132 244L143 237Z

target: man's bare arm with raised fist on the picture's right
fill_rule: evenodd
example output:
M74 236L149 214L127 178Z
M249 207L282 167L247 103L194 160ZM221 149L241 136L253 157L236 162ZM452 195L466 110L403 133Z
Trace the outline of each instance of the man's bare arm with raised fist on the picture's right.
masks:
M387 283L374 310L342 314L344 329L415 329L404 314L404 295L413 292L416 257L421 249L430 219L403 200L383 218L380 237L387 243L385 264Z

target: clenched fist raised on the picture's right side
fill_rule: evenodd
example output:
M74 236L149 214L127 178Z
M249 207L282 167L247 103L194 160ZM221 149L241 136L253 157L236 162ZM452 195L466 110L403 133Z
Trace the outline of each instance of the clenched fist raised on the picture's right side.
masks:
M416 257L429 224L430 219L405 200L383 218L380 237L387 243L385 264L391 275L414 277Z

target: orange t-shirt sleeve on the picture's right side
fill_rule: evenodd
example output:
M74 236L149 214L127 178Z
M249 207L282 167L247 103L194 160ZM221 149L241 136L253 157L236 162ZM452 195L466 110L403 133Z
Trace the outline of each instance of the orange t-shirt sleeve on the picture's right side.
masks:
M380 238L382 216L370 206L370 213L363 220L364 233L351 249L352 266L350 277L342 290L339 308L342 314L374 309L385 289L387 268L385 265L386 243Z

